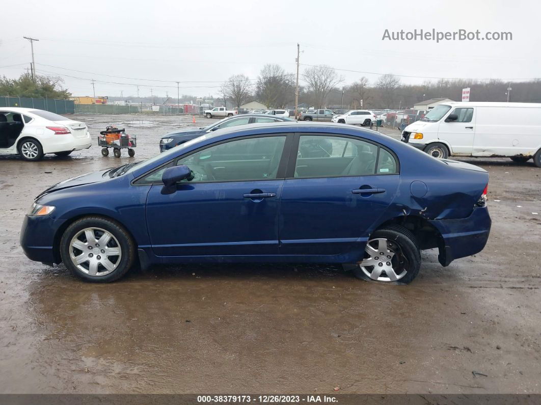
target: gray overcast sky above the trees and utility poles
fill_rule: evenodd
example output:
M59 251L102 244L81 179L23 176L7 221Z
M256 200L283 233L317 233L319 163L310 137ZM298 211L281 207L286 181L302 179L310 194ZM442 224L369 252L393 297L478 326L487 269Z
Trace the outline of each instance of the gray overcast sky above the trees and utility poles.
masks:
M216 94L233 74L256 78L262 65L295 71L301 63L424 77L541 77L538 1L53 1L25 0L17 18L2 18L0 74L18 77L35 43L37 70L62 76L74 95ZM512 41L382 41L390 31L510 31ZM19 66L11 66L21 64ZM24 64L24 65L23 65ZM51 65L51 66L45 66ZM64 70L64 69L69 70ZM301 72L306 67L301 66ZM91 72L83 73L76 70ZM101 74L101 75L98 75ZM339 71L345 83L377 74ZM124 76L133 79L125 79ZM69 76L75 76L69 77ZM402 77L403 83L425 78ZM119 82L112 84L101 82ZM215 83L213 83L215 82ZM170 86L168 88L160 86ZM189 87L189 88L188 88Z

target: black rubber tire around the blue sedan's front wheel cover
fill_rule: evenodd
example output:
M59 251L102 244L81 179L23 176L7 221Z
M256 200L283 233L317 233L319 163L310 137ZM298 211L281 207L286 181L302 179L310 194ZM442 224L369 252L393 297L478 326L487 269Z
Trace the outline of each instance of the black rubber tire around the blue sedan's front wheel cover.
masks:
M113 235L121 249L120 263L117 267L111 271L111 273L103 276L91 276L84 273L82 270L71 261L70 257L70 242L72 238L81 230L86 228L101 228ZM88 216L83 217L80 220L70 224L64 231L60 240L60 256L65 267L71 271L76 277L81 278L84 281L90 281L94 283L109 283L111 281L118 280L124 274L128 272L135 260L135 243L131 239L130 235L120 224L103 218L100 216Z

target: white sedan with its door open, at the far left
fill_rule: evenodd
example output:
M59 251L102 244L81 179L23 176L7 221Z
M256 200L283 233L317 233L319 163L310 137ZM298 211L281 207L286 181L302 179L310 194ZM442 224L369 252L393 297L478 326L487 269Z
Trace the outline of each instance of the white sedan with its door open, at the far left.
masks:
M36 161L47 153L67 156L90 145L84 122L33 108L0 107L0 155Z

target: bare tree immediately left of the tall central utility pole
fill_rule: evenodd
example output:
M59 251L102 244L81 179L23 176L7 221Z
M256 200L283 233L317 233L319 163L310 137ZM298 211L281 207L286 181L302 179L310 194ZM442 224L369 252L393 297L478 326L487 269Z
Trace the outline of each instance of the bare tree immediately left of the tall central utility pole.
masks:
M280 65L267 63L261 69L255 95L267 108L283 107L287 103L287 92L291 87L292 74L286 74Z

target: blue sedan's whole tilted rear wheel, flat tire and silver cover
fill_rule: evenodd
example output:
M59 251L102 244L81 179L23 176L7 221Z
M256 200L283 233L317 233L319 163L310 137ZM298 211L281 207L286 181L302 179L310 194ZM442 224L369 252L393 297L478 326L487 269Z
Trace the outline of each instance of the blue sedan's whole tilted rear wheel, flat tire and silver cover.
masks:
M413 234L399 225L389 225L370 236L365 257L353 272L363 280L407 284L420 267L420 249Z

